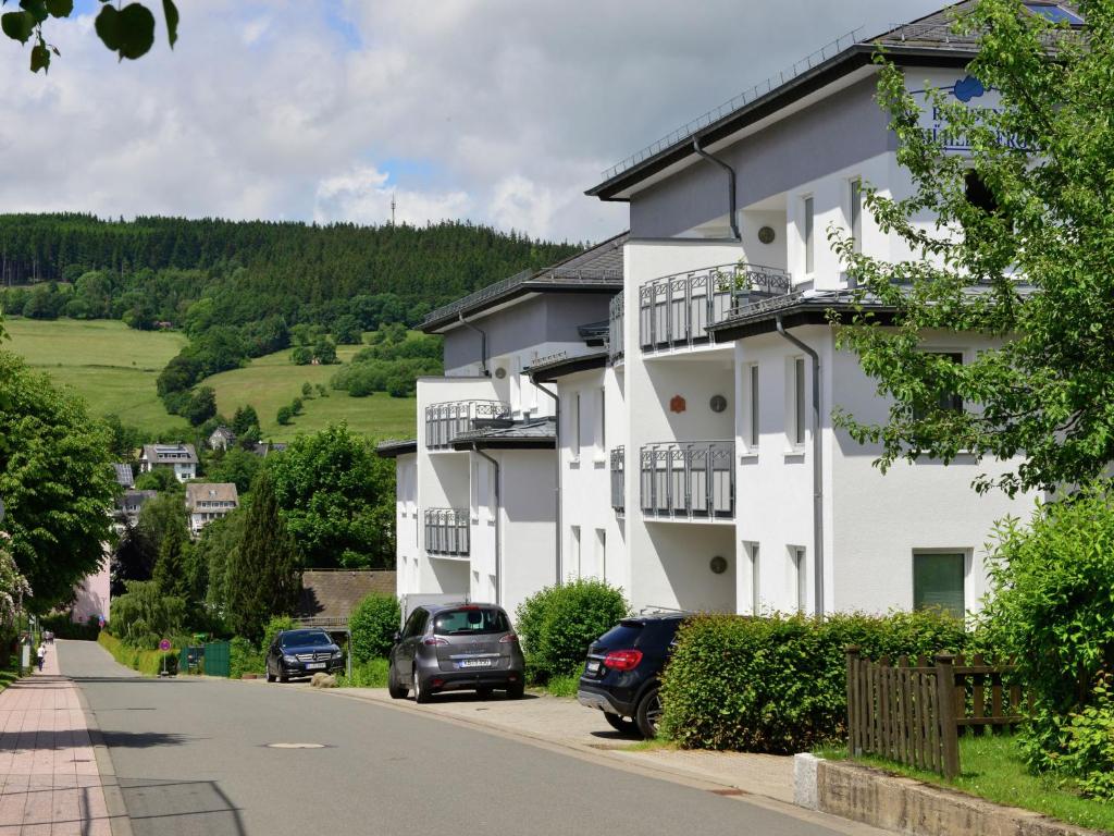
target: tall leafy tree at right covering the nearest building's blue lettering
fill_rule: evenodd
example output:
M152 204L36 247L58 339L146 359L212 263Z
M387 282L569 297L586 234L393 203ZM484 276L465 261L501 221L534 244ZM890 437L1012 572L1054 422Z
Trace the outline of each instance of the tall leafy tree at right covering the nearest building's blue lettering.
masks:
M888 263L831 234L859 284L839 344L859 353L892 404L883 424L834 418L856 440L881 445L882 468L960 451L1019 456L1018 467L976 482L1013 495L1087 482L1114 459L1114 7L1079 9L1085 38L1016 0L979 0L964 13L957 31L978 36L965 97L995 90L995 107L941 91L918 103L883 66L880 99L913 194L891 200L868 187L866 206L920 255ZM941 129L921 129L922 107ZM945 150L956 136L969 155ZM918 223L925 216L938 221ZM1005 342L956 363L924 349L926 331ZM957 398L973 408L956 409Z

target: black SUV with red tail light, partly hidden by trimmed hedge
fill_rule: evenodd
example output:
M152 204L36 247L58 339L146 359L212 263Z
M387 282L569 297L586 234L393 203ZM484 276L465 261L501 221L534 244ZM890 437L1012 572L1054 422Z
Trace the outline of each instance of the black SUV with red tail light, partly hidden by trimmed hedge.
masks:
M588 648L577 699L598 708L616 731L657 735L662 670L673 651L677 628L688 613L624 619Z

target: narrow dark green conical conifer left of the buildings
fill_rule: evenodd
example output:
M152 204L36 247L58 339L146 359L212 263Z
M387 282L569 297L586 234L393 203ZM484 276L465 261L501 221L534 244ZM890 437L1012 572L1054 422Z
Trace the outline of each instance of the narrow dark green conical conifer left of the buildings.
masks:
M244 529L251 536L229 555L226 570L227 615L237 635L258 641L272 615L294 612L302 586L297 547L280 516L274 482L265 469L252 492Z

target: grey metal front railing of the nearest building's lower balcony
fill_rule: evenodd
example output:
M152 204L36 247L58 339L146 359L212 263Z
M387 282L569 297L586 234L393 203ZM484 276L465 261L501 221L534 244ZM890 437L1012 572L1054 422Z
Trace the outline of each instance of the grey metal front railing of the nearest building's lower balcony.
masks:
M642 511L651 517L735 516L734 441L668 441L642 448Z

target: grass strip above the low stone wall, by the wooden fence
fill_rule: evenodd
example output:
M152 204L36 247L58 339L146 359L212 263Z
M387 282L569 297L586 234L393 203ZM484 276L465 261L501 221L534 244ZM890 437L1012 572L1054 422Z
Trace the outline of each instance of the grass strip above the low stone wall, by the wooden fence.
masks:
M847 749L822 749L817 754L829 760L849 759ZM951 780L881 758L864 756L852 760L892 775L958 789L995 804L1042 813L1078 827L1114 832L1114 805L1084 798L1071 781L1062 778L1032 775L1014 738L1006 735L960 738L962 772Z

